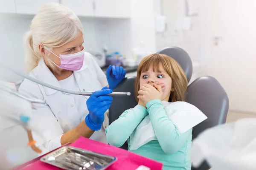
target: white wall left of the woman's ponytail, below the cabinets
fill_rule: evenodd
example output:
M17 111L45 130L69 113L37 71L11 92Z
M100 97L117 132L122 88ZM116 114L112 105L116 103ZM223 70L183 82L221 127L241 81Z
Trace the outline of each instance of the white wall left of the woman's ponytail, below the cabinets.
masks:
M18 71L24 71L23 34L29 30L32 16L0 14L0 60ZM0 68L0 79L15 81L19 76Z

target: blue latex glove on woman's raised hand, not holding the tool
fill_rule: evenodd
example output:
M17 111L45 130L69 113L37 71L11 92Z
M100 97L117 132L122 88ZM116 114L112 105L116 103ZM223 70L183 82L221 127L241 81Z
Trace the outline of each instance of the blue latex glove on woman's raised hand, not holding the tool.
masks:
M109 88L112 90L125 78L126 70L122 67L110 65L107 70Z

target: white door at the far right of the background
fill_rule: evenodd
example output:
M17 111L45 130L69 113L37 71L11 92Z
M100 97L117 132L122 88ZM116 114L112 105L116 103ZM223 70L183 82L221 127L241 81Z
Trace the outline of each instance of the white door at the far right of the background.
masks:
M256 113L256 1L211 3L209 74L227 91L230 109Z

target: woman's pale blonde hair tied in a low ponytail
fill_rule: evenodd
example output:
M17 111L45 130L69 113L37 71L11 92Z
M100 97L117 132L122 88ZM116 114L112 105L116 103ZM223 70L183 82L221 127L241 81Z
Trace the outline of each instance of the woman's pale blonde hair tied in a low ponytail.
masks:
M35 68L42 58L39 43L52 50L74 40L79 31L83 34L83 26L70 8L58 3L44 5L33 18L30 31L25 36L27 71ZM50 54L47 50L45 52Z

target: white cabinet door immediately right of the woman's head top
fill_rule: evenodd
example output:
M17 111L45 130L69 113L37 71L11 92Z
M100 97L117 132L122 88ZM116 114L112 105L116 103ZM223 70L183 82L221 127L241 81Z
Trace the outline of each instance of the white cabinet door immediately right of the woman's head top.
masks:
M79 16L93 16L93 0L61 0L61 4Z

